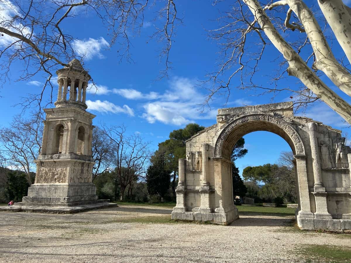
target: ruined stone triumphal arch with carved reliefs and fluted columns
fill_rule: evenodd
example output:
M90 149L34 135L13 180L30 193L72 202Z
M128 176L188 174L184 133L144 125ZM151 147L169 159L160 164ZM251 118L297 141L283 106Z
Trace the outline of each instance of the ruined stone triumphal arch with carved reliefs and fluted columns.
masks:
M239 218L230 156L236 142L253 131L283 137L294 153L299 227L351 229L351 149L340 130L294 116L292 102L219 109L216 124L187 140L172 219L229 224Z

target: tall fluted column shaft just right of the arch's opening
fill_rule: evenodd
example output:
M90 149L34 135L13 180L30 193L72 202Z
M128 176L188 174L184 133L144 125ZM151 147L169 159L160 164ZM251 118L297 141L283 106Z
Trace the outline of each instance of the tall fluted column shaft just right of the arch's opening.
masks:
M309 123L309 135L310 135L310 144L311 144L311 153L313 160L313 175L314 175L314 191L325 192L325 188L322 183L322 174L320 171L320 159L317 143L317 123Z

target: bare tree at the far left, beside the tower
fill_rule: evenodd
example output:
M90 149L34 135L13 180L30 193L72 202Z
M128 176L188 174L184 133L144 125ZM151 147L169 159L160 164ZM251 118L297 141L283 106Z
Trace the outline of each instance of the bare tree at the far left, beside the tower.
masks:
M21 170L32 184L30 172L35 170L42 141L42 115L33 114L31 119L23 119L20 115L13 118L11 126L0 130L1 155L6 159L7 167Z

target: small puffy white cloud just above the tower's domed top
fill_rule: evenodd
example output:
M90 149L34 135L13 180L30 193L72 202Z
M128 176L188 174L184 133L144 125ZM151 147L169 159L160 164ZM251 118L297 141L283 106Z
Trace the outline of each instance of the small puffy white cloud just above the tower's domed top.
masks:
M75 52L84 56L86 60L90 60L93 57L97 56L99 59L104 58L101 54L101 50L105 47L108 47L108 42L104 38L93 39L89 38L88 40L74 40L73 47Z

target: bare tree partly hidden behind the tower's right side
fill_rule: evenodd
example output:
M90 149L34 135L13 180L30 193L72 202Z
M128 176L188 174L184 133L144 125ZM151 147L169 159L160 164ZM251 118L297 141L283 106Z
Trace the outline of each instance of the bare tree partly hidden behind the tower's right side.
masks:
M95 165L93 167L93 180L104 173L111 170L113 165L113 147L110 138L105 134L104 130L94 127L92 136L92 153Z

